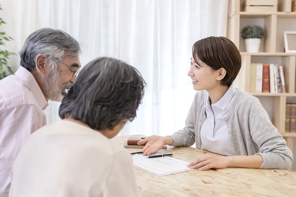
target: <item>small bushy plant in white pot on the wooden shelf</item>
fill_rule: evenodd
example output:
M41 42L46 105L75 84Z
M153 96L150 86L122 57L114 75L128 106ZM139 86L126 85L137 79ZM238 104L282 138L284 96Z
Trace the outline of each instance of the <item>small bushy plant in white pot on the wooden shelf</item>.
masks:
M259 25L247 25L242 28L242 38L244 38L247 52L258 53L263 37L264 31Z

